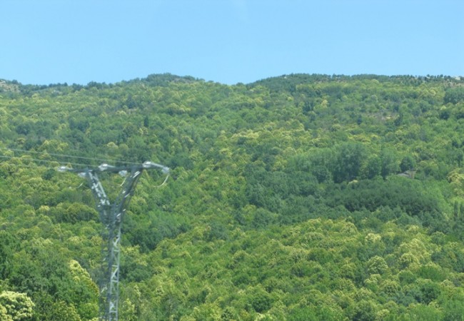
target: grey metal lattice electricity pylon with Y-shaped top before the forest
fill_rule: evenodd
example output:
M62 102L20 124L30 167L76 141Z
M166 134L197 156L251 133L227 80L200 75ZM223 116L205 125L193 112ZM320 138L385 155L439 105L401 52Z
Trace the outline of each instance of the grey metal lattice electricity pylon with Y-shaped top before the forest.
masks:
M166 175L169 174L168 167L150 161L146 161L141 165L131 166L111 166L104 163L97 168L74 169L61 166L58 169L61 172L75 172L82 178L86 178L94 194L94 198L97 200L96 208L99 210L100 220L104 225L104 233L102 235L104 239L104 275L102 284L100 285L101 320L118 320L121 226L124 213L126 212L124 205L127 206L142 171L156 168L161 169ZM119 173L126 178L122 185L123 188L113 204L111 204L100 183L97 175L99 172Z

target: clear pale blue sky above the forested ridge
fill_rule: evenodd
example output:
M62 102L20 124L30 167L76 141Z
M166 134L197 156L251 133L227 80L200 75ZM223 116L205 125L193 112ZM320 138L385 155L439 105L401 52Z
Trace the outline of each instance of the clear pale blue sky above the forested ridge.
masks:
M463 0L0 0L0 79L464 76Z

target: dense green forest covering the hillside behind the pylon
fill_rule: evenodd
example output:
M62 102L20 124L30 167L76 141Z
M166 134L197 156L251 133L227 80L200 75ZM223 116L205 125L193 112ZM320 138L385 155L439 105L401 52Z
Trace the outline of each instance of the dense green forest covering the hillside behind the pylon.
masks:
M121 320L464 320L463 78L0 81L0 137L2 321L99 317L99 213L56 168L144 161L171 177L128 205Z

